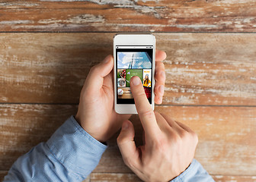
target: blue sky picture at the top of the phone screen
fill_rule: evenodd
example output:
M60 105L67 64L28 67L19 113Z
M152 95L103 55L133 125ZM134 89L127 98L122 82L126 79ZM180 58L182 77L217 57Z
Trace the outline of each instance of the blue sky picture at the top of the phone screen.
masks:
M117 52L117 68L152 68L152 59L147 52Z

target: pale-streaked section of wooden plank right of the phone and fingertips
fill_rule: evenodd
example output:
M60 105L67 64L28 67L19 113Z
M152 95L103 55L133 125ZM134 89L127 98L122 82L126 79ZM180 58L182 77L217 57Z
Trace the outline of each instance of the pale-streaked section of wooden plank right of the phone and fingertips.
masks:
M256 52L249 39L256 34L158 34L168 55L164 104L255 105Z

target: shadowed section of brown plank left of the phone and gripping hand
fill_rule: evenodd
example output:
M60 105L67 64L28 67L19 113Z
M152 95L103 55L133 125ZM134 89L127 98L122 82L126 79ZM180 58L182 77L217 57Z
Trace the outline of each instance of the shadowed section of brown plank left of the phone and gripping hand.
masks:
M111 54L93 35L1 34L1 102L78 103L90 67Z

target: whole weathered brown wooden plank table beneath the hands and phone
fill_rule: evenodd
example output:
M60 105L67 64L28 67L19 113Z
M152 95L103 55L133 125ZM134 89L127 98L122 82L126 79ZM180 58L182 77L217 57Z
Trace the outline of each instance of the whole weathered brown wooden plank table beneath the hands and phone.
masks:
M1 180L75 115L88 71L111 54L115 33L152 32L168 55L155 110L198 133L195 158L216 181L256 181L254 0L1 1L0 32ZM139 181L115 137L86 181Z

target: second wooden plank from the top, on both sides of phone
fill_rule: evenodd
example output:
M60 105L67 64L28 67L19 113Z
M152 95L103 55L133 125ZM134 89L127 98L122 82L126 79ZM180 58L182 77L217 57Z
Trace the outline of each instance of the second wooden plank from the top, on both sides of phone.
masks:
M114 33L0 33L0 102L78 103ZM256 34L155 33L164 105L256 105Z

